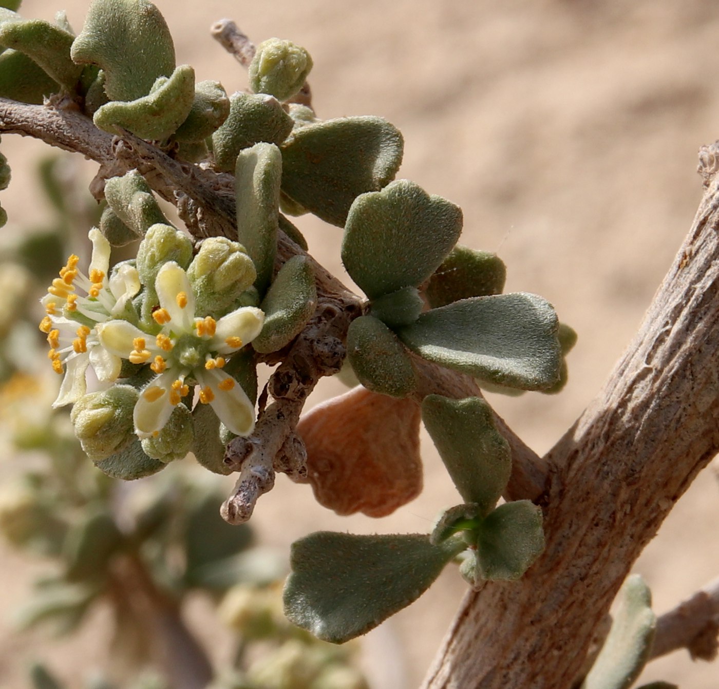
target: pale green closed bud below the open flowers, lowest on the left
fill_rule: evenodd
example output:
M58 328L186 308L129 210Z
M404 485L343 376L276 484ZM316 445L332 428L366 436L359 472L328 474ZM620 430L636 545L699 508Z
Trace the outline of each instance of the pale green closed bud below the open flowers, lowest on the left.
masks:
M130 385L114 385L104 392L83 395L70 412L75 435L93 462L118 452L134 440L132 412L138 392Z

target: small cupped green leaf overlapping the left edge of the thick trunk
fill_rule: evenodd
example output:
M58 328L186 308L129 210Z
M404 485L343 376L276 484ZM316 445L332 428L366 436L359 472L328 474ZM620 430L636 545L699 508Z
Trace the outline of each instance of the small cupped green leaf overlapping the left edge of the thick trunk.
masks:
M520 578L544 550L541 509L529 500L505 502L487 514L477 532L477 575Z

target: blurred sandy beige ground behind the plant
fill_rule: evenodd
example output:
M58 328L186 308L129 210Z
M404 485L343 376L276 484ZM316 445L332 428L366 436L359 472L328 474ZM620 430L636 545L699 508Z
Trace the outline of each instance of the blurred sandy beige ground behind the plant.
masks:
M538 292L580 340L559 397L496 399L526 442L544 452L599 389L631 339L656 286L690 227L701 198L695 173L700 144L719 138L719 5L705 0L343 1L269 0L244 4L157 0L175 36L178 63L198 80L243 88L244 73L209 37L231 17L259 42L290 38L308 48L314 104L324 118L377 114L403 132L400 177L464 209L462 242L498 251L507 291ZM25 0L27 17L67 9L83 21L84 0ZM176 8L181 7L181 11ZM2 203L27 225L42 218L25 195L23 171L44 148L6 137L14 172ZM22 144L22 145L21 145ZM30 145L34 144L34 145ZM341 272L336 228L302 218L313 254ZM334 381L316 393L342 392ZM281 477L254 522L286 547L318 528L426 532L457 495L426 448L425 493L388 519L340 519L318 507L306 486ZM228 486L229 487L229 486ZM657 612L719 574L719 486L696 481L636 565L654 591ZM30 657L48 658L78 685L103 663L103 611L71 643L12 632L6 611L23 595L29 569L1 555L0 683L22 686ZM380 686L414 687L431 662L464 591L446 571L410 609L367 637ZM201 604L198 604L198 609ZM201 611L199 611L201 612ZM198 614L199 614L198 612ZM215 643L221 630L206 627ZM644 675L682 689L715 689L719 665L694 665L684 652Z

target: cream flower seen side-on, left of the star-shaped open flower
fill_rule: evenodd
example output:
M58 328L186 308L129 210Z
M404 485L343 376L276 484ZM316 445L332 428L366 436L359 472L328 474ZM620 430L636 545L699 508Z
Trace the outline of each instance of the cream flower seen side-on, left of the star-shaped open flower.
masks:
M80 259L73 254L42 298L47 315L40 322L40 330L47 334L50 344L47 356L52 368L65 374L53 407L75 402L85 394L90 365L102 382L119 376L122 360L101 345L96 324L122 313L140 290L137 270L132 266L121 266L108 279L110 244L96 228L88 237L93 245L88 275L78 269Z

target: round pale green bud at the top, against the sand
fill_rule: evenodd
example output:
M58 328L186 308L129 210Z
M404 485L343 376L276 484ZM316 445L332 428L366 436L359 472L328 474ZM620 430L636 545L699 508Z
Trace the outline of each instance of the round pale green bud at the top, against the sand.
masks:
M257 46L249 65L249 85L255 93L287 101L302 88L311 69L312 58L303 47L270 38Z

